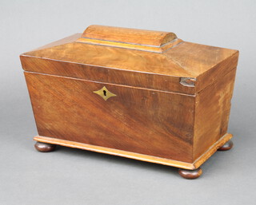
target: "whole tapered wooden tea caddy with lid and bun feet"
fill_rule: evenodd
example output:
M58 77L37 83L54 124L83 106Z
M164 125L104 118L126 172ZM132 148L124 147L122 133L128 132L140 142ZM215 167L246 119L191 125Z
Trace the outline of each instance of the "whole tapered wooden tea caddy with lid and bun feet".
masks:
M55 144L174 166L185 178L227 133L238 50L89 26L21 55L38 151Z

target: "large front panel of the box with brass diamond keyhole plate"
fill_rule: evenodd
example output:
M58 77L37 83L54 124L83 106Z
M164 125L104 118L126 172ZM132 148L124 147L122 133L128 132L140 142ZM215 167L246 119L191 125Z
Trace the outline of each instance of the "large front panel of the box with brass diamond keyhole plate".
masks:
M25 76L40 136L193 162L194 96ZM94 93L104 86L116 96Z

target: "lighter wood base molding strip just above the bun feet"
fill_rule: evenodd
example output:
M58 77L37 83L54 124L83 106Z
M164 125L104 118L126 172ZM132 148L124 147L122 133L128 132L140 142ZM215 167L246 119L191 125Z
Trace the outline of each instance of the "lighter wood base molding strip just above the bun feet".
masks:
M105 148L101 146L96 146L96 145L91 145L91 144L83 144L83 143L78 143L74 141L69 141L69 140L60 140L52 137L47 137L47 136L35 136L34 140L42 143L47 143L47 144L58 144L70 148L80 148L84 149L87 151L92 151L92 152L100 152L100 153L105 153L109 155L114 155L114 156L122 156L134 160L142 160L150 163L155 163L155 164L163 164L171 167L176 167L176 168L184 168L184 169L190 169L194 170L199 168L206 160L210 158L218 150L218 148L221 148L223 144L226 144L227 141L229 141L233 136L230 133L226 133L226 135L222 136L216 143L214 143L205 153L202 154L202 156L199 156L197 160L194 160L194 163L186 163L182 161L177 161L177 160L170 160L166 158L161 158L157 156L148 156L148 155L143 155L135 152L127 152L127 151L122 151L114 148Z

